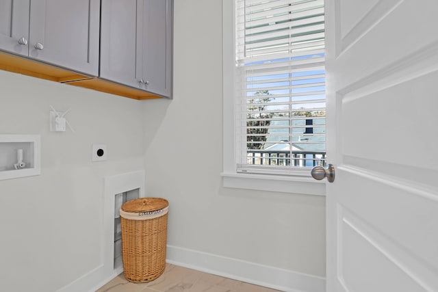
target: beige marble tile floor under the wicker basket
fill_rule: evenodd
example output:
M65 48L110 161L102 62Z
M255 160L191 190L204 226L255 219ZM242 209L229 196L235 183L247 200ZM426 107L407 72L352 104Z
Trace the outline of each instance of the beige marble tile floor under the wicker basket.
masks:
M275 292L202 271L166 264L162 276L148 283L131 283L123 273L96 292Z

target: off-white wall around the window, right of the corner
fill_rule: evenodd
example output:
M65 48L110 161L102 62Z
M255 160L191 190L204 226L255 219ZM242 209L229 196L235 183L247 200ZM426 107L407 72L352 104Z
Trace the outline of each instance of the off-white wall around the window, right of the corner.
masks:
M169 245L324 276L324 197L222 187L221 2L175 1L175 99L144 103L146 196L170 201Z

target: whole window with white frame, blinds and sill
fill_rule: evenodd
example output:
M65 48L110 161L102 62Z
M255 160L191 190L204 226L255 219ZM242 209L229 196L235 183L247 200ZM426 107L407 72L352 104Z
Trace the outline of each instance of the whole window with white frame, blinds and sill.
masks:
M301 20L301 28L300 31L293 31L296 34L292 34L291 31L287 33L287 47L292 44L292 49L290 49L290 52L289 48L285 49L285 44L283 44L283 51L274 51L274 48L272 48L272 51L270 51L270 53L268 54L267 50L265 50L263 52L264 55L270 56L266 59L263 59L263 53L260 53L263 50L259 50L259 52L255 54L253 53L255 51L253 49L253 51L251 51L252 55L246 54L244 49L248 48L249 46L246 46L245 42L242 42L242 40L245 40L245 38L242 38L242 36L244 36L244 34L248 32L248 27L257 27L257 25L255 23L248 23L248 25L245 26L244 22L242 22L242 20L244 19L243 16L245 15L242 14L242 12L245 10L247 12L250 11L248 10L249 8L245 8L245 1L222 0L222 90L224 127L222 172L223 185L224 187L233 187L239 189L281 191L286 193L324 196L324 181L315 181L313 178L311 178L310 168L303 167L309 164L309 161L312 161L311 163L313 163L313 161L317 161L316 163L325 163L325 118L323 115L317 116L314 114L313 116L309 116L309 114L307 114L306 116L306 114L303 113L304 111L325 111L323 90L323 2L296 0L251 0L249 2L247 0L246 3L246 5L254 6L254 11L251 12L253 16L255 16L255 13L259 11L255 10L256 3L258 3L257 5L265 5L263 10L265 10L266 12L264 12L264 14L272 14L272 11L269 12L269 10L272 9L269 9L266 5L273 5L274 3L276 3L283 5L283 8L287 8L285 9L285 11L287 12L283 11L282 29L280 29L280 23L278 19L277 21L274 21L274 17L272 17L272 21L268 22L268 24L265 24L265 28L268 28L268 25L270 25L272 28L274 27L273 25L276 25L277 27L278 31L276 31L275 36L271 36L272 42L278 42L279 40L281 40L281 38L283 38L284 40L286 37L283 33L285 32L285 30L292 31L292 28L289 24L297 24L298 18L300 18ZM318 6L318 8L311 9L309 5L314 4L315 6ZM298 8L297 5L300 5L301 7L299 11L294 9ZM279 6L280 5L274 5L273 7L278 7L278 9L280 9ZM263 6L259 6L259 8L262 7ZM279 10L276 11L278 12ZM312 17L311 15L313 14L319 15ZM313 18L313 20L318 18L319 20L313 21L313 23L318 22L319 28L310 29L311 25L305 24L307 18L309 18L308 20L310 20L311 18ZM253 18L252 21L254 21L254 19L255 18ZM288 23L288 25L286 25L286 23ZM298 29L298 27L294 27L294 29ZM305 42L302 43L302 46L300 48L297 47L298 42L292 42L291 44L289 44L289 39L298 40L298 37L300 37L301 39L309 38L309 36L306 36L306 31L316 30L318 30L318 33L315 32L313 36L318 36L320 47L316 45L316 40L313 40L313 49L311 49L310 47L307 49L305 46ZM261 36L261 27L259 27L259 31L257 32L257 34ZM255 38L257 34L253 34L252 37ZM283 37L281 37L281 34L283 34ZM255 39L251 41L253 42L252 44L255 44ZM236 46L236 44L240 44L240 47ZM240 48L240 51L237 50L237 48ZM302 52L303 54L299 55L298 52ZM304 54L305 52L309 52L309 54ZM251 56L252 59L250 59L249 56ZM279 70L279 68L285 68L286 70L285 72L276 73L275 71ZM317 74L316 70L307 68L318 69L320 70L320 72ZM266 70L266 72L263 72L262 69ZM304 73L306 70L309 71L307 75L305 75ZM248 74L248 78L245 77L246 74ZM280 77L281 74L286 74L287 77ZM299 76L300 74L302 76ZM272 75L278 75L278 77L274 78L275 76ZM311 76L313 76L314 78L311 78ZM251 79L250 77L253 78ZM257 80L257 78L259 80ZM263 78L265 78L266 80ZM287 82L287 85L285 85L286 83L284 83L283 85L281 85L281 83L279 83L278 85L273 85L271 81ZM312 88L312 85L315 85L315 87ZM318 86L318 90L315 90L317 89L316 86ZM295 89L298 88L301 88L301 94L297 94L297 92L295 91ZM284 94L280 93L279 91L275 91L285 89L287 89L289 92L292 92L292 94ZM265 90L268 90L268 92L266 92ZM318 94L320 94L320 96L318 98L315 92L319 92ZM311 96L313 96L313 99L310 98ZM276 99L274 100L273 98ZM287 102L285 102L286 99L288 100ZM261 101L263 101L263 103ZM317 103L318 107L315 106L315 104ZM248 109L248 106L252 108ZM259 106L261 106L262 108L259 109ZM287 110L279 111L274 108L279 106L287 107ZM300 109L299 107L305 107L306 110ZM277 113L277 111L279 113L277 114L278 117L274 119L274 115ZM281 113L283 113L282 116L280 115ZM286 115L285 113L287 113L288 115ZM259 117L261 115L261 118L258 120L256 118L251 118L250 114L259 114ZM272 115L272 117L263 117L263 114ZM247 120L249 122L247 122ZM251 122L253 122L253 124L250 124ZM287 126L285 127L283 124L275 124L275 122L285 123L287 124ZM257 133L257 131L254 131L253 133L248 133L248 129L258 129L257 131L265 129L264 131L267 131L267 133ZM279 131L284 131L285 133L279 133ZM257 139L259 138L252 138L253 141L248 142L248 136L263 136L259 134L265 135L266 141L257 141ZM318 143L313 143L312 140L314 140L317 136L319 137L319 139L321 139L321 141L318 141ZM273 140L274 138L276 140ZM273 141L275 142L272 143ZM261 157L260 159L249 159L249 156L251 155L251 151L248 151L247 149L249 143L259 144L260 148L262 148L260 150L265 150L263 164L261 164ZM261 144L264 144L263 147L261 146ZM289 148L286 151L283 149L283 152L279 152L277 159L277 157L274 157L272 153L270 154L271 157L266 157L267 155L269 155L266 154L266 152L268 152L266 151L266 148L272 146L267 144L276 144L276 146L288 145L289 147L292 146L292 148ZM321 156L312 158L311 155L313 154L311 153L311 155L305 157L306 159L294 160L294 155L304 155L304 153L298 153L294 147L304 144L309 146L313 144L321 147L318 151L318 155ZM275 150L274 147L271 147L270 149ZM269 164L269 161L271 161L271 164Z

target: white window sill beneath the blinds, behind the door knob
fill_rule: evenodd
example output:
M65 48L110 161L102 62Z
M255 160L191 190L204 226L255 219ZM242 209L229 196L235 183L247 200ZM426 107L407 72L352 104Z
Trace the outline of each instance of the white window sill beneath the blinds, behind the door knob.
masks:
M235 189L256 189L259 191L280 191L284 193L325 196L325 181L310 177L273 176L267 174L221 173L223 186Z

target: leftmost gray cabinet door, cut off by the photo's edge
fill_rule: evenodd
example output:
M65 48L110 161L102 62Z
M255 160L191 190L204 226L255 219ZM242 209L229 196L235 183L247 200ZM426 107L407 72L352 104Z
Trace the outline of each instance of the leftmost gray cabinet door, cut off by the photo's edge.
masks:
M29 5L29 0L0 0L1 50L27 56Z

